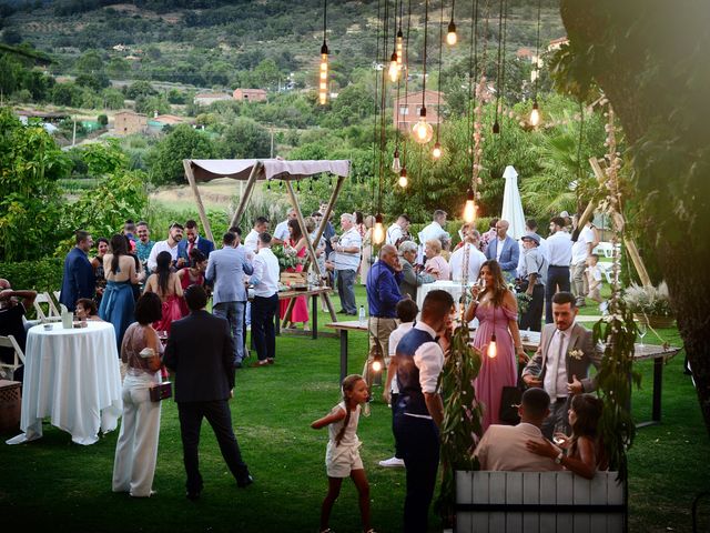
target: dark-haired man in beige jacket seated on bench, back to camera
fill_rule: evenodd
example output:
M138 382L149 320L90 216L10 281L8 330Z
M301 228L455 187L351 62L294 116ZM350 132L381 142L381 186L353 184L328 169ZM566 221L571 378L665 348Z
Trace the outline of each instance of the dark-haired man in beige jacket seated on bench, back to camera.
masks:
M540 425L550 412L550 396L542 389L528 389L518 408L518 425L493 424L476 446L480 470L513 472L547 472L562 470L549 457L528 451L529 439L542 439Z

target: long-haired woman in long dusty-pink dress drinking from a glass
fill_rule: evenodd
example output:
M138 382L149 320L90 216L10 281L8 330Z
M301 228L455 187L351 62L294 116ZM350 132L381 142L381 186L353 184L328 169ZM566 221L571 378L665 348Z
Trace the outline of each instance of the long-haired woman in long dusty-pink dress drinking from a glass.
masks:
M481 352L483 364L476 379L476 399L484 404L483 430L499 424L500 395L504 386L514 386L518 381L518 360L526 355L518 331L518 303L508 290L500 264L486 261L480 266L479 282L471 289L473 302L466 310L466 321L474 316L479 325L474 338L474 348ZM491 351L495 335L496 350ZM517 358L516 358L517 354Z

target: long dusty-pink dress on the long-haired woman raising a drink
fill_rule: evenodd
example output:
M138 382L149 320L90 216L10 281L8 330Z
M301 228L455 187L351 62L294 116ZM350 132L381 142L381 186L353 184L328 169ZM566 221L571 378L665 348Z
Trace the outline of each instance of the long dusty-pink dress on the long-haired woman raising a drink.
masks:
M495 313L494 313L495 311ZM513 311L498 306L478 305L476 318L479 325L474 338L474 346L481 352L483 364L476 378L476 399L484 404L483 429L490 424L499 424L500 394L504 386L514 386L518 382L518 365L513 345L513 336L508 331L508 321L518 320ZM497 356L489 358L486 353L490 336L496 331Z

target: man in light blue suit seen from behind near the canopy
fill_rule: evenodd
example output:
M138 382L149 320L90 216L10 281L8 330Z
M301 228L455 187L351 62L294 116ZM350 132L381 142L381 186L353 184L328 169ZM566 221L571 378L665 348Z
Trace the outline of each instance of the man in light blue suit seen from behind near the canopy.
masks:
M234 368L242 368L244 359L244 306L246 289L244 274L254 272L246 257L246 249L239 247L234 233L225 233L222 249L210 254L205 279L214 286L212 292L212 312L226 319L234 338Z

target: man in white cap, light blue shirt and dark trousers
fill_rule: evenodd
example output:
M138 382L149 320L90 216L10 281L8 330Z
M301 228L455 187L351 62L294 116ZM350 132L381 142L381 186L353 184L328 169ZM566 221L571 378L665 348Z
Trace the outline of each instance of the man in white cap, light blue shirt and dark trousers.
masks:
M545 306L545 280L547 261L540 252L540 235L528 231L523 238L523 262L520 265L520 292L531 298L528 309L520 313L520 330L540 331Z

